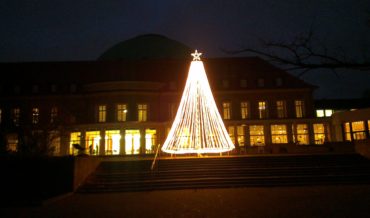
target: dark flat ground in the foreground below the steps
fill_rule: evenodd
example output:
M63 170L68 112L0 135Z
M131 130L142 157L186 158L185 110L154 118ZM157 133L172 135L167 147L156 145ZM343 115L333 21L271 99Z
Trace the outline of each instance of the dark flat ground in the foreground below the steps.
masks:
M370 217L370 185L68 194L0 217Z

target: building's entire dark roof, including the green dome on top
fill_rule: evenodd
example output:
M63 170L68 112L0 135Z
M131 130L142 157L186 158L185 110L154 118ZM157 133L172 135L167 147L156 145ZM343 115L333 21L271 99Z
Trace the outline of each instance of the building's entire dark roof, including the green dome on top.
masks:
M97 61L0 63L7 74L0 82L4 94L15 86L86 85L104 82L176 83L183 87L192 50L167 37L147 34L125 40L104 52ZM202 59L211 86L241 88L314 88L289 73L257 57ZM276 79L280 80L279 85ZM263 79L263 86L257 81ZM163 86L166 88L166 86ZM23 89L23 88L22 88ZM29 88L26 88L29 89Z

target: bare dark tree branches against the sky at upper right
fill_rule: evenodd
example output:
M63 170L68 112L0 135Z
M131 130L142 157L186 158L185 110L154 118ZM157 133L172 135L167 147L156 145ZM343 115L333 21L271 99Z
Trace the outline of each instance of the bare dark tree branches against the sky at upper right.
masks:
M251 53L268 61L282 65L287 71L300 71L299 76L315 69L370 70L370 60L366 55L361 60L348 58L342 49L330 50L314 38L313 31L297 36L292 42L261 40L261 49L242 48L225 50L229 54Z

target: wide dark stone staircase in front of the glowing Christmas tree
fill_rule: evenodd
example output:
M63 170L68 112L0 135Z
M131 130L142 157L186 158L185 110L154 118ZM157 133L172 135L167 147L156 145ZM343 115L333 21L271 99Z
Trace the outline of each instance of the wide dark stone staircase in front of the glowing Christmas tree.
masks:
M370 184L357 154L104 161L79 193L261 186Z

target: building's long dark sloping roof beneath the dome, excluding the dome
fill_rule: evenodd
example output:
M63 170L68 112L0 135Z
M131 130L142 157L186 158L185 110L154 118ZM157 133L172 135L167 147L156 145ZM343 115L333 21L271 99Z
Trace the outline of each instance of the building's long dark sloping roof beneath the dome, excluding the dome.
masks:
M191 58L144 59L123 61L0 63L7 74L1 86L22 84L89 84L111 81L151 81L183 83ZM258 88L257 79L264 78L264 88L277 88L275 79L281 78L281 88L313 88L314 86L274 67L257 57L203 59L211 83L229 80L230 87L239 86L241 79L248 88ZM237 84L233 85L233 82Z

